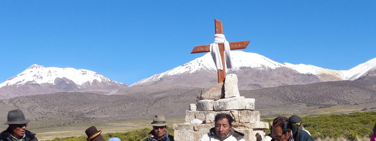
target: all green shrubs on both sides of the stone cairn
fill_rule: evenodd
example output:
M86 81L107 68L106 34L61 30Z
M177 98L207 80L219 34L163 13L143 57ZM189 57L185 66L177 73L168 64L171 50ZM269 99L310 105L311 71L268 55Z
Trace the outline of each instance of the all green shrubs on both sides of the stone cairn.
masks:
M262 121L270 123L273 119L263 119ZM373 133L373 125L376 123L376 112L356 112L350 114L302 117L302 122L304 128L311 133L314 140L369 140ZM167 130L170 135L173 135L174 130L172 128L167 127ZM124 133L107 133L102 134L102 136L105 140L117 137L122 141L141 141L147 138L150 131L150 129L144 128L142 130ZM270 129L265 130L265 132L269 134ZM46 141L86 141L86 138L86 136L65 137Z

